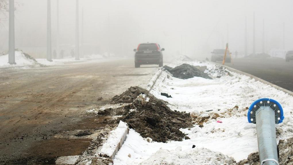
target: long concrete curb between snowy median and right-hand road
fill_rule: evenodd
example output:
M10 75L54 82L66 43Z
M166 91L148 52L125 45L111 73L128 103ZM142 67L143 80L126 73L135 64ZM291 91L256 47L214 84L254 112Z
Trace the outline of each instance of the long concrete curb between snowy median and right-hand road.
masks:
M215 63L215 62L212 62L212 63L217 64L217 63ZM228 69L229 71L231 71L231 72L235 72L235 73L238 73L238 74L244 74L244 75L250 77L251 79L255 79L255 80L260 81L260 82L262 82L262 83L264 83L264 84L268 84L268 85L270 85L270 86L272 86L272 87L274 87L274 88L276 88L276 89L278 89L278 90L280 90L280 91L283 91L283 92L288 93L289 95L293 96L293 92L292 92L292 91L289 91L289 90L287 90L287 89L284 89L284 88L282 88L282 87L280 87L280 86L277 86L277 85L275 85L275 84L272 84L272 83L270 83L270 82L268 82L268 81L265 81L265 80L263 80L263 79L260 79L260 78L258 78L258 77L256 77L256 76L253 76L253 75L251 75L251 74L248 74L248 73L242 72L242 71L240 71L240 70L237 70L237 69L234 69L234 68L231 68L231 67L228 67L228 66L222 65L222 64L217 64L217 65L223 66L223 67L227 68L227 69Z

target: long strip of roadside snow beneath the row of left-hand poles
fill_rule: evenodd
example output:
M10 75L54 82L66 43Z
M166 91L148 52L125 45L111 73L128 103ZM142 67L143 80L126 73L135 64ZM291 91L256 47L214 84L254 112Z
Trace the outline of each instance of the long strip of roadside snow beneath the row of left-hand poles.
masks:
M112 58L112 57L110 57ZM63 65L74 62L86 62L88 60L99 60L103 62L103 60L107 60L110 58L106 58L102 55L85 55L80 58L80 60L75 60L75 57L66 57L64 59L52 59L52 62L47 61L47 59L34 59L29 55L25 55L25 53L21 51L15 52L15 62L16 64L8 64L8 55L0 56L0 68L13 68L13 67L21 67L23 69L29 67L40 67L40 66L54 66L54 65Z

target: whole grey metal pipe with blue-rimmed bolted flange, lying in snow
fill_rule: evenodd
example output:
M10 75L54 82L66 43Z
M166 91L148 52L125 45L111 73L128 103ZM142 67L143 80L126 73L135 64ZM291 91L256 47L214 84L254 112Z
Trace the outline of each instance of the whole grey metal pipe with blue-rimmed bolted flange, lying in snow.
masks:
M262 98L251 104L247 117L249 123L256 124L261 165L279 165L275 124L284 119L282 106L273 99Z

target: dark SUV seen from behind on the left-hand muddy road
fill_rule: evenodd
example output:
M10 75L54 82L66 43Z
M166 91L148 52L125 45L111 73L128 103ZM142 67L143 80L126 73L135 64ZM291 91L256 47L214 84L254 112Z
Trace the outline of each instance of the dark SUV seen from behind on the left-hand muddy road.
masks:
M163 53L165 49L160 47L157 43L142 43L137 49L134 49L135 67L139 68L143 64L158 64L163 66Z

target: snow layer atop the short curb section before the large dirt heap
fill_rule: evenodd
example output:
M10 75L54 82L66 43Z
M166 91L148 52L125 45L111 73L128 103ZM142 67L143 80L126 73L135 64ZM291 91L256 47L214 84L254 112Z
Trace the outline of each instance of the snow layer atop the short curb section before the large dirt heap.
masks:
M109 157L113 155L118 145L120 145L120 141L127 132L128 126L126 123L120 121L119 125L115 130L110 131L110 135L107 141L103 144L101 149L102 154L106 154Z

